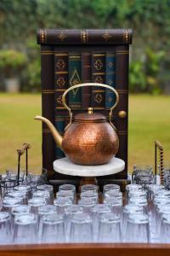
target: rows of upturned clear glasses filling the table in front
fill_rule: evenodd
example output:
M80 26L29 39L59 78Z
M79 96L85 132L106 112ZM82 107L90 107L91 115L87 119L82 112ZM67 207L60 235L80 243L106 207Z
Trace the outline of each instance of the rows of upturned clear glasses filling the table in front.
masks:
M148 190L141 184L127 185L124 207L122 192L116 184L104 186L102 204L99 204L95 185L83 185L78 201L75 200L76 188L71 184L59 186L56 199L53 199L50 185L38 185L37 191L32 191L30 185L16 188L13 191L23 193L25 201L22 196L17 197L17 193L15 197L6 196L3 200L3 211L9 215L11 242L14 243L148 242L151 241L151 214L155 224L159 224L157 241L160 241L161 224L166 222L164 215L168 214L168 207L162 207L161 211L161 206L170 203L170 192L155 184L150 184ZM23 205L26 200L28 205ZM153 203L151 210L150 202ZM156 233L154 227L152 225L152 233ZM28 234L34 230L36 236L29 239Z

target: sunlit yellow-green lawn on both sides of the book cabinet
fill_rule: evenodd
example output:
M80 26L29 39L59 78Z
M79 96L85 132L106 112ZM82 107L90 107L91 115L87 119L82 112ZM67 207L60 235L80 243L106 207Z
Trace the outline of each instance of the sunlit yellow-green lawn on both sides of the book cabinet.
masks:
M22 143L31 144L29 165L41 166L42 125L33 119L40 113L39 94L0 94L0 170L16 166ZM170 96L130 96L128 138L129 171L135 163L154 163L155 139L170 162Z

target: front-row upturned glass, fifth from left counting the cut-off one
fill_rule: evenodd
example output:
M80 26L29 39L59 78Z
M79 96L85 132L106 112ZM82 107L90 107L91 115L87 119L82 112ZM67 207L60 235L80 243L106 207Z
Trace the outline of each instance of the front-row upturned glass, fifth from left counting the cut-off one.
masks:
M112 212L99 216L99 242L121 242L121 219Z

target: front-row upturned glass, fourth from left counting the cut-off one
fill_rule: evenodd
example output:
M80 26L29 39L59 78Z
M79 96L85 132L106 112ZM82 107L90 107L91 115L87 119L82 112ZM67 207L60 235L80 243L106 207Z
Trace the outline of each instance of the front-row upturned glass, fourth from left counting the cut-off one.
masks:
M79 212L71 218L71 242L92 242L93 226L92 218L88 213Z

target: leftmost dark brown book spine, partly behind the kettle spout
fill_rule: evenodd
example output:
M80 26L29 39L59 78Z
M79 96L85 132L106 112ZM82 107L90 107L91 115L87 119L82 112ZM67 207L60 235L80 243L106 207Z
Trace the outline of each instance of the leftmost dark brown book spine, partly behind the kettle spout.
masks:
M54 49L49 45L41 46L42 73L42 116L54 124ZM54 139L47 125L42 124L42 166L53 177Z

